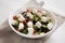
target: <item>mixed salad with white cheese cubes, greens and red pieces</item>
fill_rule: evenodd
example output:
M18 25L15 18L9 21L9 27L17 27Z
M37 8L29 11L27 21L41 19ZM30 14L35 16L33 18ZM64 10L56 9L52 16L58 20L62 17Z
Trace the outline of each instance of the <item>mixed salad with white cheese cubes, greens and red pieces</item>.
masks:
M50 14L43 10L25 9L12 19L13 28L24 34L46 34L53 28Z

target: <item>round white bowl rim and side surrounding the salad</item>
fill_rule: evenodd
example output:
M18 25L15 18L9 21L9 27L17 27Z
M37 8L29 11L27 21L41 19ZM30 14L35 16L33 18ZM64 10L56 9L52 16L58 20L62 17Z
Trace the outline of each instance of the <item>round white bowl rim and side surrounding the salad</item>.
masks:
M55 27L56 27L56 16L55 16L55 14L52 13L51 11L47 11L47 10L44 10L44 9L42 9L42 8L38 8L38 6L30 6L30 8L37 9L37 10L44 10L44 11L47 11L48 13L50 13L50 15L51 15L51 17L52 17L53 25L54 25L53 28L52 28L52 30L49 31L48 33L43 34L43 35L40 35L40 34L37 34L37 35L28 35L28 34L24 34L24 33L18 32L17 30L15 30L15 29L13 28L12 24L11 24L11 23L12 23L12 17L13 17L14 14L21 13L22 10L24 10L24 9L26 9L26 8L28 8L28 6L21 8L21 9L18 9L17 11L12 12L11 15L9 16L9 25L10 25L10 27L12 28L13 31L15 31L17 34L20 34L20 35L22 35L22 37L25 37L25 38L37 39L37 38L46 37L46 35L52 33L52 32L55 30Z

